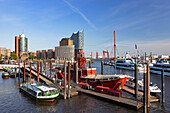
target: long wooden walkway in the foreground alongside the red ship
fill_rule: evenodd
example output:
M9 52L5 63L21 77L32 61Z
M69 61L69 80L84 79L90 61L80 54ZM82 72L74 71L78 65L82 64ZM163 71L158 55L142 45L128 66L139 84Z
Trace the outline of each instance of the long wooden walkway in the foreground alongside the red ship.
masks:
M95 91L91 91L91 90L86 90L86 89L82 89L82 88L76 88L77 91L81 91L83 93L92 95L92 96L96 96L96 97L100 97L102 99L106 99L114 104L117 105L121 105L124 107L129 107L135 110L140 109L143 106L143 103L140 101L136 101L133 100L131 98L127 98L127 97L115 97L115 96L111 96L111 95L107 95L107 94L103 94L103 93L98 93Z

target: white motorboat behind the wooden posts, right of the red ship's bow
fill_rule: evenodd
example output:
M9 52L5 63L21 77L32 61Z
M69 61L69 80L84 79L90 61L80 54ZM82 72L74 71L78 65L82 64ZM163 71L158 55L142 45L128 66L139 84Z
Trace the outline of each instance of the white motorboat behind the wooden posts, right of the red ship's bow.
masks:
M131 88L135 88L135 78L128 76L128 79L125 83L126 86L129 86ZM144 91L144 84L143 79L138 80L138 90ZM150 82L149 90L151 94L160 93L161 90L158 88L157 84Z

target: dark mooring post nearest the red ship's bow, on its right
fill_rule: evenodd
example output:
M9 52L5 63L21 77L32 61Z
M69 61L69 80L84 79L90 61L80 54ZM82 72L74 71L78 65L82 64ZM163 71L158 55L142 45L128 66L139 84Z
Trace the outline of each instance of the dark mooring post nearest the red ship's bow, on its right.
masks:
M135 98L138 99L138 64L135 64Z

